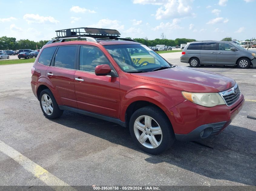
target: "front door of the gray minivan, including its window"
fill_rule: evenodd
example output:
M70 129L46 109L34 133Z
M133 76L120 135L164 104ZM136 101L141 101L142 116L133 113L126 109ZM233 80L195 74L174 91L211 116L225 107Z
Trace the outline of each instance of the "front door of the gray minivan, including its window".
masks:
M234 47L228 43L218 43L216 64L218 65L235 65L236 64L237 51L232 51L231 48L234 48Z

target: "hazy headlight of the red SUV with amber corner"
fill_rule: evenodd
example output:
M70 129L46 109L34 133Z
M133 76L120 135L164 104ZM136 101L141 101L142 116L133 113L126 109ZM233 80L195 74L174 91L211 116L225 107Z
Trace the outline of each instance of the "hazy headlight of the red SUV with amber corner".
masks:
M181 93L187 100L205 107L226 104L218 93L191 93L186 91L182 91Z

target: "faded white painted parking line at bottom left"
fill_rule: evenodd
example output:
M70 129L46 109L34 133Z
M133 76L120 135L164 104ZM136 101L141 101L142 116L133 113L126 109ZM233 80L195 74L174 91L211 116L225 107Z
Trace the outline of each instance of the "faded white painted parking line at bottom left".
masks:
M31 161L29 158L25 157L20 152L16 151L14 148L6 145L0 140L0 151L8 155L10 158L18 162L25 170L34 174L35 177L42 180L46 185L53 186L55 190L74 190L67 183L63 182L59 178L55 177L47 170L39 166L38 164Z

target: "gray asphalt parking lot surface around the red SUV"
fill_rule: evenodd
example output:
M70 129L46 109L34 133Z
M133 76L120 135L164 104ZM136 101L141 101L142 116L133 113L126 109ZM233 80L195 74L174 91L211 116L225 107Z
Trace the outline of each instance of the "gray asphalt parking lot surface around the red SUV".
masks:
M188 66L180 55L161 56ZM243 109L213 138L175 142L165 153L150 155L115 123L69 111L46 119L31 90L32 65L0 66L0 145L39 165L61 185L256 185L256 120L247 118L256 116L256 68L198 68L234 78L246 99ZM0 185L49 184L18 160L2 148Z

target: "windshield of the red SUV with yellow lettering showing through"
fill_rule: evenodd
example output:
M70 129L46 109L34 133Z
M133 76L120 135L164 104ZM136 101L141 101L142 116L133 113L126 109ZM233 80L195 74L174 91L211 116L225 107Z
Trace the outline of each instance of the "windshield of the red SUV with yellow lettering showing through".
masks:
M124 72L152 72L172 67L145 45L105 45L105 48Z

